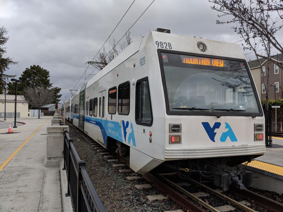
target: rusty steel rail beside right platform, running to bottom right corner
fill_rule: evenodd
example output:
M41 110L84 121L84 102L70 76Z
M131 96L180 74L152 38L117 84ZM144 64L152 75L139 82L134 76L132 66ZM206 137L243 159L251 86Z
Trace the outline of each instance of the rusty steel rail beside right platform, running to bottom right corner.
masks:
M229 189L229 191L233 192L234 194L237 194L239 196L245 197L247 199L255 201L257 204L267 207L272 211L275 212L282 212L283 211L283 204L280 202L276 202L270 198L267 198L265 196L262 196L260 194L257 194L255 192L252 192L250 190L238 190L235 188Z

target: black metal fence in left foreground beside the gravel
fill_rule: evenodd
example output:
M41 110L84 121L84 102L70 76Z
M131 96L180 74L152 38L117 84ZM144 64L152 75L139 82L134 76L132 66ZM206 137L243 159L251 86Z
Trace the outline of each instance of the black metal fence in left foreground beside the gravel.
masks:
M64 169L68 179L68 193L74 212L106 212L80 159L73 139L64 129Z

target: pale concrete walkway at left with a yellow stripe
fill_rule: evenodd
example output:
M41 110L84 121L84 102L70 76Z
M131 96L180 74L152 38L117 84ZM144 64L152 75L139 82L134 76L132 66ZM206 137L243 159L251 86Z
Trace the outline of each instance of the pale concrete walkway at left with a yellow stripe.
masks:
M1 134L7 129L0 129L1 212L62 212L58 167L46 167L51 118L18 118L27 124L12 128L13 134Z

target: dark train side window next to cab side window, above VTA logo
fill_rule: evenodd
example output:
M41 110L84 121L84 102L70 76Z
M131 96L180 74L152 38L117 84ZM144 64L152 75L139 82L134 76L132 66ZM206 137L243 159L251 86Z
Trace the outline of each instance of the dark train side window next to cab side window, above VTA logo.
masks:
M130 112L130 82L118 86L118 114L129 115Z

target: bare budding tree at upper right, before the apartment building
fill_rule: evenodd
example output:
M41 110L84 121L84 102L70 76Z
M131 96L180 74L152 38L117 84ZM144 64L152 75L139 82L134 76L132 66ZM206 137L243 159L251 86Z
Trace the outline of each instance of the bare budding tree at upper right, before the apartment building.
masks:
M213 10L220 12L219 18L227 17L228 20L216 20L217 24L234 23L232 29L242 38L244 50L253 51L261 67L260 58L268 61L266 66L266 77L263 77L266 88L266 110L268 110L269 100L269 66L270 63L277 64L282 58L271 57L271 48L275 48L283 53L283 47L275 37L276 32L282 28L281 11L275 15L274 11L280 7L282 0L208 0L214 3ZM272 6L273 5L273 6ZM276 7L277 5L277 7ZM282 5L281 5L282 6ZM263 49L259 49L262 48ZM262 72L263 75L263 72Z

